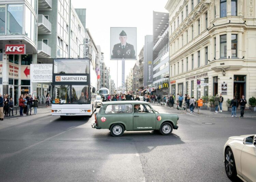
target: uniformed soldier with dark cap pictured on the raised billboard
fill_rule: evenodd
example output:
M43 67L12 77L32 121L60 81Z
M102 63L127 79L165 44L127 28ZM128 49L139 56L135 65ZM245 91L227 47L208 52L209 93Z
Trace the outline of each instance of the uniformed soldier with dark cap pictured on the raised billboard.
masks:
M133 45L126 42L127 35L125 31L119 34L119 40L120 43L113 47L111 59L136 59Z

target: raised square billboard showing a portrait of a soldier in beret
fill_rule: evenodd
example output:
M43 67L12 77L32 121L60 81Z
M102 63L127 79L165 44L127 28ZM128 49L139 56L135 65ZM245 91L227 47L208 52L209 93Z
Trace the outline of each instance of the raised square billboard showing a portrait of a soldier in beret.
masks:
M110 59L137 59L137 28L110 28Z

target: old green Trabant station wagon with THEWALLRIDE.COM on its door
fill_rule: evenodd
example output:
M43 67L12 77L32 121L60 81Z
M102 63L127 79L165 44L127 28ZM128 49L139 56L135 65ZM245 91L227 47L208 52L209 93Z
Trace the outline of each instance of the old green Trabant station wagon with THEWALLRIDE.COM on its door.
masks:
M178 120L178 115L160 114L144 101L110 101L102 102L91 126L109 129L113 136L122 136L125 130L160 130L163 135L168 135L172 129L178 129Z

